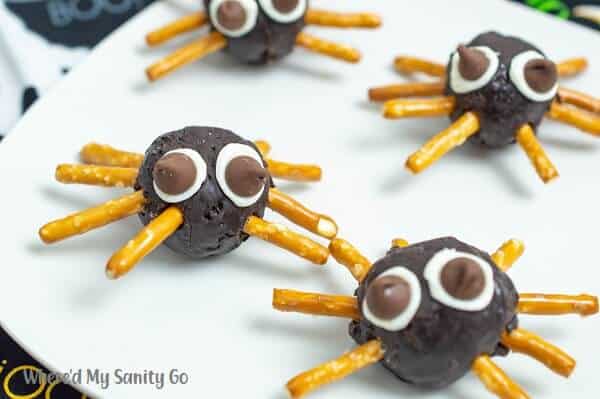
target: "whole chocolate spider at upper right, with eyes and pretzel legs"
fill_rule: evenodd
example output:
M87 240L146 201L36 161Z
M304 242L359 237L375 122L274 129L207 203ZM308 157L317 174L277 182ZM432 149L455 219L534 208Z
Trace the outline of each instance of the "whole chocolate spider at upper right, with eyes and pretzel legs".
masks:
M558 85L559 77L587 67L584 58L555 64L520 38L487 32L458 46L447 67L405 56L395 65L404 74L421 72L438 80L370 89L372 101L386 101L386 118L448 115L453 122L408 158L413 173L466 140L490 148L516 141L547 183L558 171L536 137L544 116L600 135L600 100Z

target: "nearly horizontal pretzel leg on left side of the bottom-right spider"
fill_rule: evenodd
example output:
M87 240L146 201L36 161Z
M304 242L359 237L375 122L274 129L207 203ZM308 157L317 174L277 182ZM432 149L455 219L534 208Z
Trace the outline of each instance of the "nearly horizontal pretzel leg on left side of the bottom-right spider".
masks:
M273 290L273 308L282 312L360 319L356 297Z

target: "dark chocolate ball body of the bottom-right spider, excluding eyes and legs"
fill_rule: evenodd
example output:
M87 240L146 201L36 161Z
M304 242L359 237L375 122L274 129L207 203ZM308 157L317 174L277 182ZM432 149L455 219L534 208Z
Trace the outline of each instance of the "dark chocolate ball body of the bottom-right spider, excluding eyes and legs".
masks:
M446 248L473 254L493 266L494 296L485 309L460 311L431 297L423 270L433 255ZM349 333L359 344L380 339L385 350L381 363L396 377L422 388L442 388L468 373L477 356L507 353L500 336L517 327L518 294L508 275L494 265L487 253L452 237L392 248L373 265L356 290L359 304L363 303L371 281L395 266L412 271L421 284L422 299L414 319L403 330L391 332L362 315L360 321L350 323Z

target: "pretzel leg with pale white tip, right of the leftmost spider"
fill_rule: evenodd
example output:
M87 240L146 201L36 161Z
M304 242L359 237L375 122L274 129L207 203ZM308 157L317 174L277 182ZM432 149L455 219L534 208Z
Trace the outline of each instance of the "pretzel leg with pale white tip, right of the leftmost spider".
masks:
M324 238L334 238L338 227L329 216L315 213L276 188L269 190L269 208Z

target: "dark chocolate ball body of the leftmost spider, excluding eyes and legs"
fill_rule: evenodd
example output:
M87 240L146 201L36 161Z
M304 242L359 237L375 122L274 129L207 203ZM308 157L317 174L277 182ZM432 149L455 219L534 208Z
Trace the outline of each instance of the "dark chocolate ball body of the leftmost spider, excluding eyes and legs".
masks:
M221 190L215 166L221 149L230 143L245 144L260 154L254 143L216 127L186 127L157 138L146 151L140 168L136 190L144 190L147 203L140 213L145 225L166 208L177 206L183 211L183 225L165 244L172 250L193 257L205 258L228 253L242 244L248 235L243 228L250 216L262 217L267 206L270 177L263 195L252 206L240 208ZM191 198L177 204L165 203L154 191L152 171L156 162L167 152L180 148L197 151L207 166L207 176L200 190ZM263 160L266 167L266 163Z

